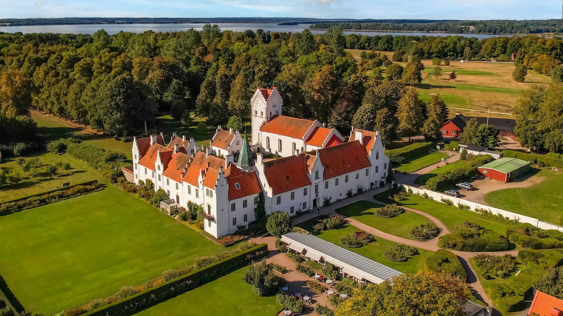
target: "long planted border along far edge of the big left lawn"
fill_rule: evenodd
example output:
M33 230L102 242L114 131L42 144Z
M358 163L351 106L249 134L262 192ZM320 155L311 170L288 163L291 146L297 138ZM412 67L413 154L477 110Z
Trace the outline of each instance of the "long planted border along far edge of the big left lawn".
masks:
M95 180L77 184L68 188L57 189L56 191L51 191L48 193L41 193L40 195L34 195L11 202L5 202L0 204L0 216L17 213L19 211L32 209L33 207L47 205L62 200L67 200L68 198L97 192L102 189L104 189L103 184Z

